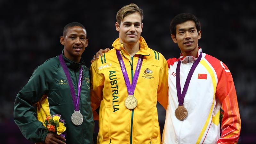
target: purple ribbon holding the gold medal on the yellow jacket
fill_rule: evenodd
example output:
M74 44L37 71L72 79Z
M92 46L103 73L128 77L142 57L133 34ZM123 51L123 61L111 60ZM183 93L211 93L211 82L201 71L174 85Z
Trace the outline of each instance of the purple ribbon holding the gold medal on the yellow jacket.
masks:
M127 87L128 95L133 95L137 81L138 81L140 68L141 68L141 64L143 61L143 55L140 55L140 57L139 57L139 60L138 60L138 63L137 63L136 69L135 69L135 73L133 76L134 79L132 81L132 85L130 84L130 80L129 80L129 77L128 77L128 74L127 74L127 71L126 71L126 68L124 65L124 60L122 58L120 51L116 50L116 56L117 56L117 59L119 61L119 64L120 64L120 67L121 67L121 70L122 70L122 73L124 76L124 81L125 81L125 84Z

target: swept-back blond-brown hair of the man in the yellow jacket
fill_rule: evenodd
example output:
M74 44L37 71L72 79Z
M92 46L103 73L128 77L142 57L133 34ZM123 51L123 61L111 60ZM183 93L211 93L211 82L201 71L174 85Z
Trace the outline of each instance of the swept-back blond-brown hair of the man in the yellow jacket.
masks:
M141 16L141 23L143 20L143 10L138 7L136 4L129 4L122 7L117 13L116 13L116 21L120 25L121 21L129 14L132 14L134 12L138 12Z

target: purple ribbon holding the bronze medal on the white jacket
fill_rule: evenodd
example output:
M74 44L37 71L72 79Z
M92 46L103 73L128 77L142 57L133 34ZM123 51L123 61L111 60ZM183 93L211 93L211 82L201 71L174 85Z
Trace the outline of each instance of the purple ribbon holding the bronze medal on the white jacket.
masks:
M176 68L176 88L177 88L177 96L178 96L178 101L179 101L179 106L183 105L185 94L188 91L188 85L190 83L191 77L196 69L196 66L199 64L200 60L202 58L202 52L198 56L197 60L193 63L192 67L190 68L188 72L188 76L186 79L186 82L184 84L182 93L181 93L181 88L180 88L180 63L181 61L178 61L177 68Z

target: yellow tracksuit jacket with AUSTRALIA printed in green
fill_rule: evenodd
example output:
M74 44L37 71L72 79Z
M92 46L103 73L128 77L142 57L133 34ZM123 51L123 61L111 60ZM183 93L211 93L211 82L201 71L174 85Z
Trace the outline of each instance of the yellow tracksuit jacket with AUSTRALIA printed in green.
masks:
M114 47L104 53L91 66L92 110L100 106L100 144L160 144L161 135L157 118L157 101L166 109L168 104L168 66L164 56L150 48L140 37L140 50L133 56L124 50L119 38ZM120 50L124 64L132 81L139 55L144 55L134 96L138 105L127 109L124 100L128 96L116 51ZM95 115L96 114L96 115Z

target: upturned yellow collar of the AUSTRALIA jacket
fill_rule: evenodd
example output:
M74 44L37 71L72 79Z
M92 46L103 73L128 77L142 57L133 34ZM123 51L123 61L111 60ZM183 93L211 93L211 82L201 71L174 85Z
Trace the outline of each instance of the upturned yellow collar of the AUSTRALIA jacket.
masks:
M150 55L148 44L146 43L145 39L142 36L140 36L139 43L140 43L140 50L136 54L146 55L146 56ZM123 55L129 55L129 53L124 49L124 44L120 43L120 38L117 38L112 44L112 46L116 50L120 50L123 53Z

